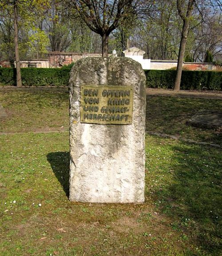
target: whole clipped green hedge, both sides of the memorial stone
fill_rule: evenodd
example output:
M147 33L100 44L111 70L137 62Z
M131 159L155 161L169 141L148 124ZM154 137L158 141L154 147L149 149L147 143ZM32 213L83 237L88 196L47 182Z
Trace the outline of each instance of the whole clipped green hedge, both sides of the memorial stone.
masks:
M21 69L22 84L25 86L56 85L67 86L70 68L63 69ZM146 70L147 87L172 89L176 70ZM0 68L0 85L16 85L16 69ZM222 72L182 71L181 89L222 91Z

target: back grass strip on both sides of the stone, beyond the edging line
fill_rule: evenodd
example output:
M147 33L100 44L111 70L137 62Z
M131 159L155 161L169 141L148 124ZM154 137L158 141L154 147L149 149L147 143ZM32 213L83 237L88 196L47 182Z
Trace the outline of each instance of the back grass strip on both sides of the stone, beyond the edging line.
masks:
M69 94L64 90L1 91L0 102L8 113L0 122L0 132L59 130L62 126L68 130ZM217 130L186 125L199 110L221 109L221 100L149 96L146 129L222 145Z

